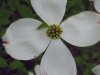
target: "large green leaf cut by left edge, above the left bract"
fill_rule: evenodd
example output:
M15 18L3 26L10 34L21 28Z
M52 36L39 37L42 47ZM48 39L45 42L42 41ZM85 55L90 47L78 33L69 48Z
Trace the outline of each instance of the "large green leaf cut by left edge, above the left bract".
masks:
M12 15L12 12L6 9L0 9L0 24L3 24Z

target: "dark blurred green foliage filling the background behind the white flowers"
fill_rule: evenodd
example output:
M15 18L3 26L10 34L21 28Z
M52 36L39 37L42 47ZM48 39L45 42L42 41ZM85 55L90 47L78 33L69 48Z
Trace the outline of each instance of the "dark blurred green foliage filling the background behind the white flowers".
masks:
M95 11L93 2L88 0L68 0L63 20L82 11ZM2 45L2 36L8 26L21 18L35 18L42 21L34 12L30 0L0 0L0 75L28 75L34 73L34 66L40 64L43 54L29 61L11 58ZM43 22L43 21L42 21ZM77 65L77 75L93 75L91 69L100 64L100 42L90 47L76 47L65 42Z

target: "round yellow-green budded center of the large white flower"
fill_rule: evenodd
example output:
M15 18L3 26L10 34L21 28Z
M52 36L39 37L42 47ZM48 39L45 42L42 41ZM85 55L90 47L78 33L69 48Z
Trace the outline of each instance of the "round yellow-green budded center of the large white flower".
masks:
M53 24L49 26L46 35L51 39L58 39L62 32L63 30L60 26Z

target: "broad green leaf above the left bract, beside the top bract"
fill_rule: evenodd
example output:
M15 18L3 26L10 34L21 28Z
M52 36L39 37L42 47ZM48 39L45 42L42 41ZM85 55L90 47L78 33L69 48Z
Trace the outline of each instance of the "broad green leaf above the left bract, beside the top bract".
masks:
M37 16L36 14L33 14L32 9L30 7L28 7L28 6L19 5L17 9L18 9L18 12L20 13L20 15L22 17L34 18L34 17Z

